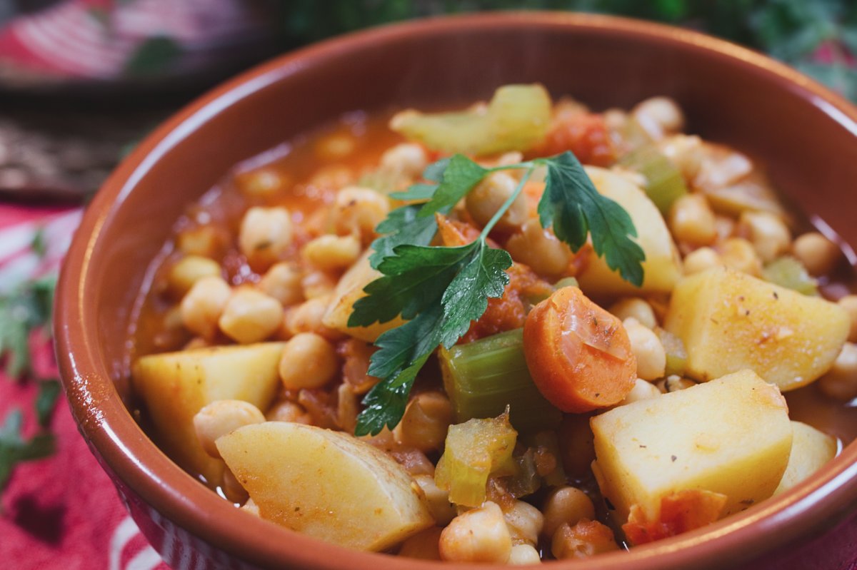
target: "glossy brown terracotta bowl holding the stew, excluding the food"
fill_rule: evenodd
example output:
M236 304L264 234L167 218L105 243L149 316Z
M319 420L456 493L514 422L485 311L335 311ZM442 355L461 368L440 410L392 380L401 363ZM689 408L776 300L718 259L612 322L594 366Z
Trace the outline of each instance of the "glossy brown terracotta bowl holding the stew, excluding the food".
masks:
M231 165L345 111L461 104L531 81L596 109L676 98L691 132L764 160L796 205L857 244L857 110L790 68L698 33L594 15L472 15L357 33L255 68L173 116L125 160L89 207L59 287L57 354L75 418L173 567L394 570L404 562L239 512L135 423L126 407L129 326L147 267L183 207ZM854 439L853 413L830 421ZM855 460L850 443L804 484L728 520L554 567L846 567L857 543Z

